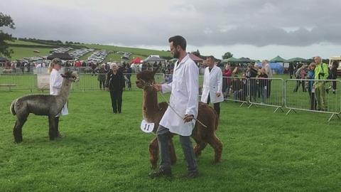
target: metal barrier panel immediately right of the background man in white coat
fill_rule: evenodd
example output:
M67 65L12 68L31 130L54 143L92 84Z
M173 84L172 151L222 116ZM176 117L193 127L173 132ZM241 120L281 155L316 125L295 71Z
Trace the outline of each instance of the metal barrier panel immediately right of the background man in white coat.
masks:
M239 77L222 77L222 94L224 100L247 103L247 79Z

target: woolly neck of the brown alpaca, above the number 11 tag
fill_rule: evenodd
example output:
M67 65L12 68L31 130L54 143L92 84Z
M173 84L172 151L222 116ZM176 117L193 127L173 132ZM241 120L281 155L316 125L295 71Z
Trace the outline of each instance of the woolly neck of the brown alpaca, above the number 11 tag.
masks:
M144 90L144 117L149 119L150 115L158 112L158 95L153 88Z

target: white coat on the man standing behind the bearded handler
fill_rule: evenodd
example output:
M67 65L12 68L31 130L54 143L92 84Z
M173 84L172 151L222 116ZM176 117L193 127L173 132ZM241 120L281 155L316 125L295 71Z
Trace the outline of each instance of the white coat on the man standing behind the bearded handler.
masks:
M217 97L216 93L220 93ZM211 72L205 68L204 83L202 85L201 102L207 103L208 94L210 94L210 102L222 102L224 97L222 95L222 70L216 65L212 68Z

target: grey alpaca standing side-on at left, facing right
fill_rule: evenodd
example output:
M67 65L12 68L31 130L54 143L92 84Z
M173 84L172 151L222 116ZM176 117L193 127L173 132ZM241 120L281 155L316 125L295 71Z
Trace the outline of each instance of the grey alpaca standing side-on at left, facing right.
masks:
M55 116L63 109L70 93L72 82L78 80L77 73L67 72L62 74L63 83L60 95L26 95L13 100L11 103L11 113L16 115L16 124L13 128L14 141L23 141L22 128L28 114L48 116L50 140L58 136L58 129L55 126Z

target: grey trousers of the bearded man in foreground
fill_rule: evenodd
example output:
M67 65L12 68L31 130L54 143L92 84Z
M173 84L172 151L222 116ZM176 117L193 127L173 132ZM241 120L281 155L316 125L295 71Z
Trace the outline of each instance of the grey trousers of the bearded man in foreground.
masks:
M156 136L158 137L158 148L160 150L160 169L171 169L171 157L170 151L168 148L168 139L169 139L169 129L163 127L162 125L158 126L158 130L156 131ZM183 148L183 154L187 161L187 170L197 171L197 161L195 161L193 145L190 141L190 136L181 136L180 137L180 144Z

